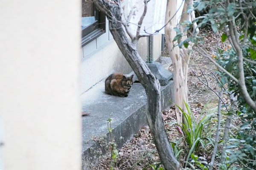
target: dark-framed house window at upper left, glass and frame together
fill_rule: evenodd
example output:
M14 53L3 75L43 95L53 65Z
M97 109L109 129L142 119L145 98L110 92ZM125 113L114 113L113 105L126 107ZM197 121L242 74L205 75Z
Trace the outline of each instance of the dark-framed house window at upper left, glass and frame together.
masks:
M82 0L82 47L105 33L105 15L96 9L91 0Z

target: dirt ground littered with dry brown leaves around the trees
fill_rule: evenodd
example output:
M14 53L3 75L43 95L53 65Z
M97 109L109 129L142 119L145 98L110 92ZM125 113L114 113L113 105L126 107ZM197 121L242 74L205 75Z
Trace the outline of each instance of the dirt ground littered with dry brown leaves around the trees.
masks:
M209 33L209 30L203 30L205 33ZM214 54L216 51L215 47L218 48L227 48L227 45L221 42L221 35L210 34L205 35L205 48ZM168 51L165 50L162 53L162 56L168 57ZM169 69L172 69L171 63ZM195 117L198 117L199 113L201 113L202 109L209 101L207 105L207 109L215 108L218 105L218 97L205 85L203 85L200 80L195 76L192 72L194 71L199 78L205 81L205 75L209 85L216 92L219 91L219 87L216 81L210 77L208 74L211 74L216 70L216 67L209 62L206 58L199 55L197 52L192 52L192 56L189 62L189 105L191 107L192 112ZM227 96L223 96L224 102L228 102ZM175 122L175 108L174 106L170 106L168 111L163 111L163 120L165 122L165 127L167 131L174 131L174 127L169 127L169 123ZM178 134L176 133L168 133L169 139L172 141L173 139L178 138ZM97 164L91 165L91 170L108 170L110 165L110 156L102 158L99 160ZM116 162L115 162L115 170L142 170L150 169L149 164L157 164L160 162L160 158L157 155L156 147L152 141L152 136L149 130L149 127L143 127L140 131L134 135L134 137L130 140L130 142L126 143L124 147L119 150Z

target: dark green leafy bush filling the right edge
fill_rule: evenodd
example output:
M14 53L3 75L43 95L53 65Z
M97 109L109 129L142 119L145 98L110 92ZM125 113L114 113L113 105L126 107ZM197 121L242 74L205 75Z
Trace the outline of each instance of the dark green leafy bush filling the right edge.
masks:
M197 22L198 27L209 24L214 32L222 31L222 42L229 40L229 49L218 49L214 59L233 77L239 79L238 56L244 60L243 70L245 77L245 86L250 98L256 101L256 2L255 0L195 0L194 6L189 10L195 9L204 11L209 9L206 14L198 17L192 22L187 22L189 29L193 23ZM186 30L185 29L185 30ZM179 30L177 30L178 32ZM231 35L232 32L236 38ZM177 34L182 36L182 34ZM246 38L245 38L246 37ZM233 38L233 39L232 39ZM181 47L187 46L188 42L195 44L203 42L201 37L188 37L187 40L179 43ZM240 47L237 48L234 43ZM232 48L232 45L234 48ZM241 49L238 51L238 49ZM241 53L242 51L242 56ZM205 54L205 53L204 53ZM222 85L227 85L229 91L233 91L239 101L237 115L242 122L239 130L236 132L236 139L230 140L227 153L227 168L255 170L256 169L256 115L252 108L245 101L240 80L236 83L227 73L217 71ZM221 165L222 166L222 165ZM220 166L220 167L221 167ZM221 167L222 168L222 167Z

